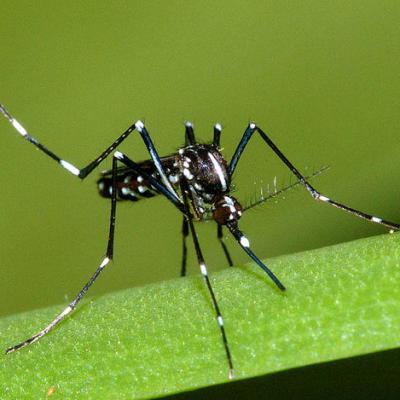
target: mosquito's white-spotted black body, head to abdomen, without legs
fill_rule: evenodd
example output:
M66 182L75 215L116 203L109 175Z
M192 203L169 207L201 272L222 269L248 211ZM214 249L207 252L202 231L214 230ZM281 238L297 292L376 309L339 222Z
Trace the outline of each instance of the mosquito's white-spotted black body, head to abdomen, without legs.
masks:
M219 149L213 144L194 144L180 149L176 154L162 157L161 164L172 186L180 191L181 181L191 193L191 211L196 220L212 215L217 223L225 225L241 216L241 206L229 196L228 166ZM151 160L137 163L141 170L160 179ZM159 194L149 179L129 167L117 171L117 199L138 201ZM102 173L97 181L99 194L112 197L112 171Z

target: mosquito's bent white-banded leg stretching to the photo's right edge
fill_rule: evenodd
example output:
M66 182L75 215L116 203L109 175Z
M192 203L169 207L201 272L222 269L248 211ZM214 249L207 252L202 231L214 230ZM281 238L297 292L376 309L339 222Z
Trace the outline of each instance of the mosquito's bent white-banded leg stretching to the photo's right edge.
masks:
M307 189L310 195L315 200L320 200L324 203L328 203L333 207L339 208L340 210L349 212L350 214L355 215L356 217L365 219L370 222L374 222L379 225L387 226L390 229L399 230L400 225L394 222L386 221L380 217L375 217L370 214L366 214L362 211L356 210L354 208L348 207L345 204L338 203L335 200L330 199L327 196L319 193L309 182L308 180L302 175L299 170L286 158L286 156L278 149L278 147L272 142L272 140L266 135L264 131L262 131L259 127L257 127L254 123L249 124L246 128L239 145L236 148L236 151L232 157L231 162L229 163L229 175L235 171L236 165L247 146L248 142L250 141L251 137L255 132L258 132L261 138L264 140L265 143L272 149L272 151L279 157L279 159L292 171L292 173L296 176L296 178L300 181L300 183Z

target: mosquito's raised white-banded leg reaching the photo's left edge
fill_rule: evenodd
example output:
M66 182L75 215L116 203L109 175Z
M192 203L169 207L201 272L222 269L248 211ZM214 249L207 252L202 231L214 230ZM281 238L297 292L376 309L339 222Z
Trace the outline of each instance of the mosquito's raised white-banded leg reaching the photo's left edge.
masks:
M121 144L131 132L135 129L140 133L142 140L147 147L148 152L150 153L151 159L154 162L154 165L157 168L158 173L160 174L164 185L169 189L169 191L175 196L176 199L179 199L178 195L175 193L171 183L169 182L164 169L161 165L160 157L154 147L154 144L150 138L149 133L147 132L142 121L137 121L133 125L131 125L125 132L122 133L121 136L117 138L106 150L104 150L97 158L95 158L91 163L89 163L84 168L77 168L75 165L70 162L63 160L58 155L53 153L47 147L38 142L33 136L31 136L28 131L9 113L9 111L4 107L4 105L0 104L0 113L4 115L4 117L10 122L10 124L16 129L16 131L23 136L28 142L32 143L36 148L38 148L43 153L47 154L50 158L57 161L63 168L69 171L71 174L78 176L81 179L86 178L115 148Z

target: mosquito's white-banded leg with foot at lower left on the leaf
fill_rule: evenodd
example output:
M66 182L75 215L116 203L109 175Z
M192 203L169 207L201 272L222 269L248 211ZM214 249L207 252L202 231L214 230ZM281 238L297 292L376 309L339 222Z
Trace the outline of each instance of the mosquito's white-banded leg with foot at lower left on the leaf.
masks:
M116 210L117 210L117 158L113 158L112 162L112 197L111 197L111 212L110 212L110 227L109 227L109 236L108 236L108 243L107 243L107 251L106 256L104 257L101 264L97 267L94 274L91 276L89 281L85 284L85 286L81 289L81 291L77 294L75 299L66 307L57 317L50 322L44 329L40 332L36 333L29 339L21 342L17 345L9 347L6 350L6 354L12 353L16 350L21 349L22 347L28 346L39 340L43 337L46 333L50 332L56 325L58 325L67 315L69 315L77 306L77 304L81 301L82 297L86 294L89 288L93 285L95 280L98 278L101 272L103 272L104 268L109 264L109 262L113 258L114 252L114 231L115 231L115 217L116 217Z

